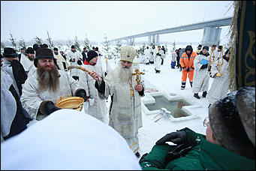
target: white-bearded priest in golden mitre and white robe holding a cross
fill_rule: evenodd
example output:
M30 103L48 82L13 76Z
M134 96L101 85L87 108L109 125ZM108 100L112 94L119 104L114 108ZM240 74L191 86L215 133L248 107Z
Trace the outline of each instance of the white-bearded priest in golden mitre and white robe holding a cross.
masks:
M144 96L144 86L141 82L137 84L136 77L132 77L135 49L125 46L120 53L118 67L104 79L95 71L90 75L97 80L95 87L99 94L105 98L111 96L109 125L125 138L134 154L140 157L138 129L142 127L140 97Z

